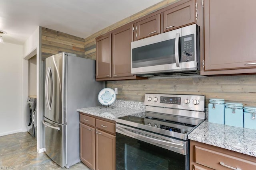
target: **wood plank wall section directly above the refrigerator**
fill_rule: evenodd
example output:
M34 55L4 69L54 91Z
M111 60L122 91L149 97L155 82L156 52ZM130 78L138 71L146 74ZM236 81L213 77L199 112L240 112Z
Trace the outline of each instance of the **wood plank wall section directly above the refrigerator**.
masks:
M42 60L61 52L84 58L84 38L42 27Z

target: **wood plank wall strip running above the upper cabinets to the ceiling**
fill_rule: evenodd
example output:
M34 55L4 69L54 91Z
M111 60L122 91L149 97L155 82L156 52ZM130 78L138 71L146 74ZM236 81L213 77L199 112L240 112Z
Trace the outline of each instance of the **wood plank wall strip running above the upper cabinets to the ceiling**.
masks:
M107 33L108 31L111 31L113 29L116 29L122 25L125 25L126 23L129 23L131 21L137 20L138 18L141 18L143 16L146 16L147 14L150 14L152 12L155 12L157 10L160 10L162 8L164 8L165 6L168 6L170 4L173 4L174 2L177 2L179 0L163 0L161 2L159 2L158 4L155 4L154 6L151 6L149 8L146 8L145 10L142 10L130 17L125 18L124 20L121 20L117 23L114 23L113 25L110 25L109 27L106 27L96 33L94 33L93 35L91 35L90 37L87 37L85 39L84 42L84 55L85 58L89 58L89 59L94 59L96 58L96 41L95 38L103 35L104 33Z

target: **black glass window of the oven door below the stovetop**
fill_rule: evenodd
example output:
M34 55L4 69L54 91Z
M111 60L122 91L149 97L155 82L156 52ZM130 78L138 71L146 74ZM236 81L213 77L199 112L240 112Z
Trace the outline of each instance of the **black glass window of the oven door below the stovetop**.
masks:
M117 170L185 170L186 156L116 133Z

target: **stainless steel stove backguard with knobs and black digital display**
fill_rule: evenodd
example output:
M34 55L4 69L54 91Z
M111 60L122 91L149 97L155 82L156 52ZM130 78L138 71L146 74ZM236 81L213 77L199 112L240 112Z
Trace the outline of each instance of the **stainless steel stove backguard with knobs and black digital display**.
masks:
M189 94L154 94L146 93L146 106L167 107L193 111L204 111L205 96Z

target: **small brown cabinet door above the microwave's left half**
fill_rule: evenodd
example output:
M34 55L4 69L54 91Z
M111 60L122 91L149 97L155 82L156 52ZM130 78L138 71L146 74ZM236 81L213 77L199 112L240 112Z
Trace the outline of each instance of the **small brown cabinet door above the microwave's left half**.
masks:
M136 40L160 34L160 14L139 21L135 25Z

